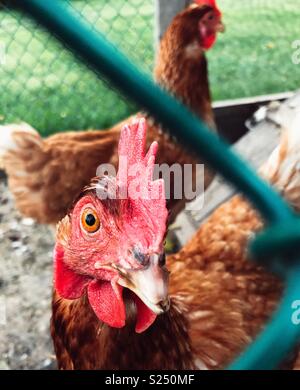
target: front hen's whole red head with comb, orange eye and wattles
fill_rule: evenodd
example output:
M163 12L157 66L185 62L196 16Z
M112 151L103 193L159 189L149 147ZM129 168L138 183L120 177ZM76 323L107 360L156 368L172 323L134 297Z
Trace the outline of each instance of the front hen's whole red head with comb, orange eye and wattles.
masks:
M61 297L73 300L87 293L96 316L121 328L126 290L138 333L169 307L164 182L153 180L157 143L145 154L145 141L144 119L123 128L117 176L94 179L79 196L58 225L54 255Z

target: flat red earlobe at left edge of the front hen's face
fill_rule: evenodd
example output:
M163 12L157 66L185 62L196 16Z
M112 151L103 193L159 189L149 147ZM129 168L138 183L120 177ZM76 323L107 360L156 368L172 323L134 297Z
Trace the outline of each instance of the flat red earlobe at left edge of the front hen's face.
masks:
M54 285L58 294L65 299L80 298L90 278L78 275L68 268L64 261L64 251L56 246L54 251Z

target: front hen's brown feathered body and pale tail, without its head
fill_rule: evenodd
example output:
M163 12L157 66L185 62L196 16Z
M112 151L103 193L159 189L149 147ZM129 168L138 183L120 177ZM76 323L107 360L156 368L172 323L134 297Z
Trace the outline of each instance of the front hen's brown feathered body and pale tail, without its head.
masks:
M295 209L300 206L299 130L300 120L261 169ZM225 367L263 329L282 295L281 281L247 259L249 239L262 227L242 196L219 207L179 253L168 257L171 308L142 335L134 332L133 307L126 327L116 330L99 322L86 298L70 302L54 293L52 337L59 367ZM284 368L297 368L299 359L294 360Z

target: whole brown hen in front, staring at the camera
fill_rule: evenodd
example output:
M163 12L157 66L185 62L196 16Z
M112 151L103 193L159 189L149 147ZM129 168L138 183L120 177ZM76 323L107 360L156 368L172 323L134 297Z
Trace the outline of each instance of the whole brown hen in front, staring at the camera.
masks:
M295 207L299 129L300 117L262 169ZM150 180L156 145L145 157L137 142L142 135L143 121L125 128L119 150L129 156L137 150L136 162ZM58 227L52 337L59 367L211 369L230 363L262 329L282 292L275 276L246 260L249 238L262 227L256 212L236 196L168 257L166 311L163 199L156 211L151 201L103 202L95 192L101 183L81 194ZM120 183L118 176L115 186ZM161 182L150 180L149 186ZM103 245L107 234L112 247Z

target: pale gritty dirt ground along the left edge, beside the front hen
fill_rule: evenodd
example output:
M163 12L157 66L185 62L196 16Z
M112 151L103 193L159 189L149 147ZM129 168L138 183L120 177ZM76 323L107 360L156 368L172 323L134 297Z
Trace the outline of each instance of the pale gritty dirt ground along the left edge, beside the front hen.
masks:
M53 369L54 232L22 218L0 179L0 369Z

